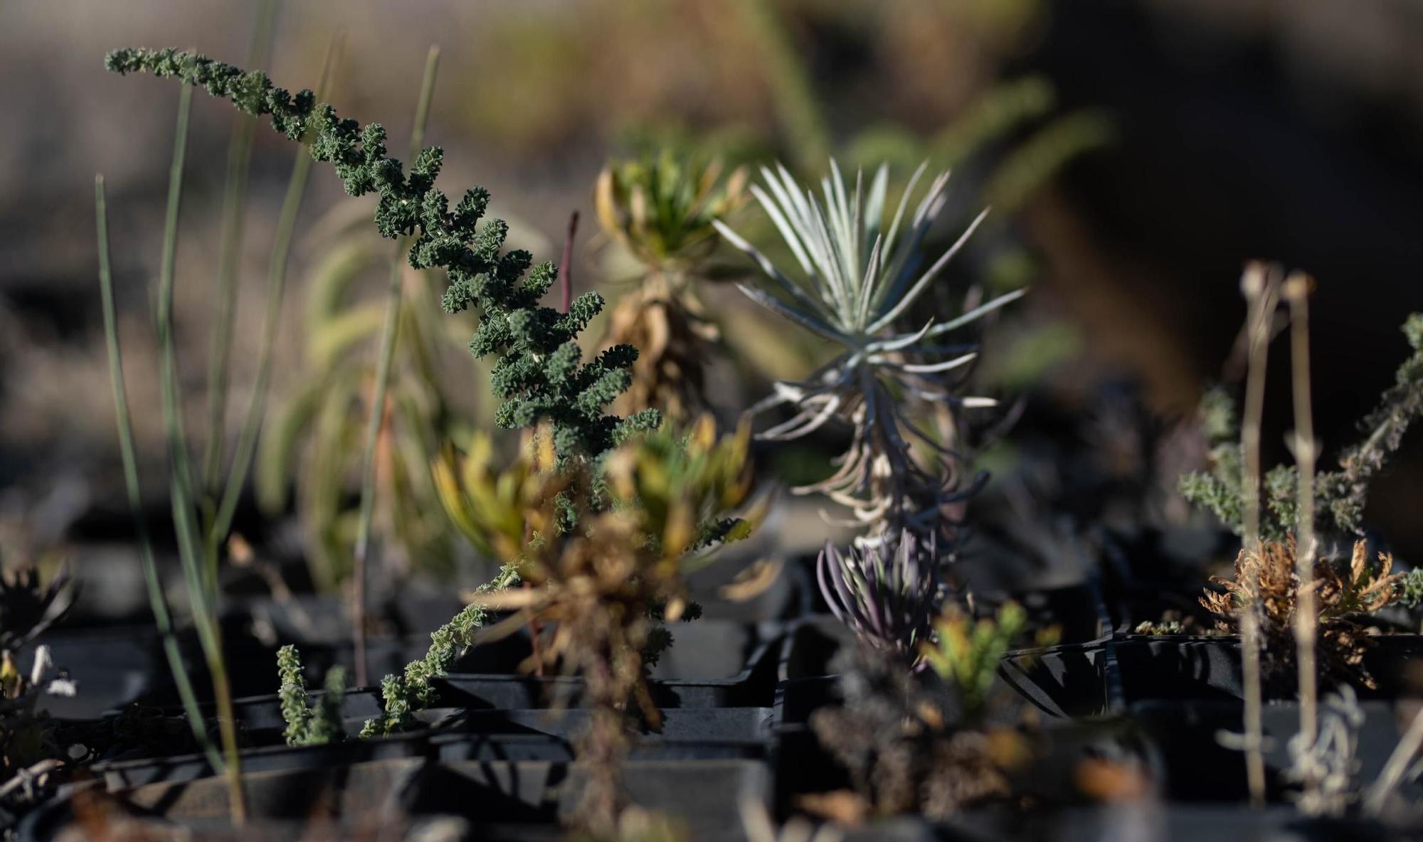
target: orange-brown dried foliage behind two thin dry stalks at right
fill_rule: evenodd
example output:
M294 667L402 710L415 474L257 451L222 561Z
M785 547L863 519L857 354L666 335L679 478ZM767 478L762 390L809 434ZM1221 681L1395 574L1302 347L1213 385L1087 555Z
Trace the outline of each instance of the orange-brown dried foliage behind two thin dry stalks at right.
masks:
M1370 566L1363 540L1355 542L1345 569L1329 559L1315 563L1313 580L1305 587L1313 592L1319 607L1319 666L1328 680L1377 687L1363 666L1363 654L1370 646L1363 617L1399 599L1396 585L1403 575L1392 573L1392 569L1393 556L1389 553L1379 553L1379 566ZM1265 643L1262 663L1274 680L1281 680L1294 666L1294 622L1301 595L1295 575L1295 538L1289 535L1284 543L1266 542L1259 553L1242 549L1235 558L1235 577L1211 576L1211 582L1222 590L1207 589L1201 604L1218 617L1217 627L1221 630L1238 630L1245 606L1259 602Z

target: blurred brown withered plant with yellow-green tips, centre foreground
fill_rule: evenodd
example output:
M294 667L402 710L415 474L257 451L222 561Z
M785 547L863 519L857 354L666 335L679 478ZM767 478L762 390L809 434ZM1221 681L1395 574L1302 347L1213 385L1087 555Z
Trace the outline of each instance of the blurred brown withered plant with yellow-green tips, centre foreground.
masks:
M602 506L582 508L576 526L522 545L527 587L480 596L488 607L517 610L491 636L528 623L545 629L529 667L583 677L591 721L578 742L586 781L575 822L596 838L613 838L628 806L620 767L630 725L662 727L645 667L659 622L694 616L683 563L750 531L747 521L726 516L751 492L750 438L744 424L717 438L703 415L684 435L663 428L626 442L602 465ZM556 475L573 485L593 481L572 476L579 471L589 467Z

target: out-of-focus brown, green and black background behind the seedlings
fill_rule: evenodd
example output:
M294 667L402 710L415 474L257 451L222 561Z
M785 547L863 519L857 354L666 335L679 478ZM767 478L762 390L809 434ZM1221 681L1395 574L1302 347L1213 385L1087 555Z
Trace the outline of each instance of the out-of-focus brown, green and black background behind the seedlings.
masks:
M147 290L175 94L104 73L102 55L176 46L242 64L256 18L256 4L236 1L0 4L0 550L71 556L98 583L85 599L97 604L94 592L104 593L111 616L142 616L147 606L127 543L90 191L102 171L129 398L141 457L157 468ZM344 51L333 104L386 124L393 138L408 134L425 48L440 44L425 137L447 151L441 183L487 186L494 213L511 220L512 245L535 259L559 259L569 216L581 212L575 292L619 299L665 280L666 266L599 229L595 183L610 159L670 149L719 159L723 178L773 161L803 176L821 175L830 155L850 168L888 161L891 195L921 161L952 166L955 230L939 236L985 205L993 213L951 267L945 296L1035 287L990 329L976 375L1002 397L1093 421L1063 425L1056 441L1109 472L1141 471L1154 458L1111 427L1120 395L1160 430L1228 373L1247 259L1319 279L1316 412L1326 449L1350 438L1353 418L1387 385L1405 356L1396 326L1423 309L1423 16L1409 3L302 0L280 6L272 77L314 84L334 30ZM195 101L178 323L196 430L232 121L223 104ZM231 377L239 395L256 374L263 272L290 155L286 141L256 132L238 253ZM388 266L390 245L353 228L349 205L319 169L297 230L256 492L236 523L265 555L297 559L289 575L320 587L336 586L350 548L360 395ZM356 205L369 213L373 201ZM746 213L741 225L757 218ZM723 283L721 263L743 266L707 257L694 302L697 321L710 326L699 336L723 347L703 373L707 401L729 420L771 378L808 371L822 350ZM411 275L406 289L407 306L425 311L404 316L398 417L381 451L377 529L398 550L386 553L394 580L413 567L437 577L458 570L423 459L491 414L478 400L484 373L464 353L468 323L434 311L438 282ZM1275 361L1288 364L1285 354ZM1266 441L1278 459L1288 377L1272 380ZM229 432L243 405L228 403ZM1012 432L1007 441L983 457L1000 478L1032 448ZM832 452L777 448L763 462L800 482L822 476L817 454ZM165 475L152 468L144 475ZM1420 479L1414 441L1370 496L1370 521L1413 558L1423 556L1423 519L1413 516ZM162 488L148 496L162 499ZM822 538L803 528L811 542Z

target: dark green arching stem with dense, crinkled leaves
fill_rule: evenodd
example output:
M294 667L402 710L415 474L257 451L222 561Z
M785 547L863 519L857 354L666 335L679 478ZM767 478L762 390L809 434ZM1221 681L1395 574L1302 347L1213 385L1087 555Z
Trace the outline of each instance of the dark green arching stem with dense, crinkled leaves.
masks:
M541 306L558 269L548 262L534 266L524 250L501 253L508 225L482 220L490 202L484 188L470 188L450 208L445 193L434 186L444 164L438 146L421 149L407 175L398 159L386 155L386 129L380 124L361 127L339 118L333 107L317 104L312 91L293 95L262 71L245 73L175 48L115 50L105 67L202 87L245 114L270 115L272 128L292 139L313 129L312 158L330 162L349 195L379 195L376 226L381 236L414 235L410 265L447 272L444 309L481 314L470 348L477 357L495 357L491 381L502 401L495 412L501 427L522 428L546 420L559 458L568 459L601 455L629 432L657 425L655 411L628 418L605 412L628 388L628 368L638 350L613 346L592 360L582 358L578 334L602 311L602 296L583 293L566 313Z

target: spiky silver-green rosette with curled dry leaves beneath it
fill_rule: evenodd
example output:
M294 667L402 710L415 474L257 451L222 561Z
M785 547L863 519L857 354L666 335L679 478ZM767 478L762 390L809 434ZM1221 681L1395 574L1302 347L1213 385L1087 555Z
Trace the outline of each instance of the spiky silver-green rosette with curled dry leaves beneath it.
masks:
M793 407L788 421L761 434L773 441L800 438L832 418L854 428L854 441L838 457L835 474L794 491L821 492L848 506L859 523L869 526L871 540L901 529L952 538L953 503L972 491L972 484L961 481L952 435L925 431L916 415L926 404L993 405L989 398L955 394L951 377L973 361L976 347L951 344L946 337L1023 292L999 296L948 321L906 329L911 307L988 212L925 269L921 246L943 212L949 174L933 178L906 219L909 199L925 172L921 165L885 228L888 166L879 166L868 191L862 172L855 174L854 191L848 191L840 166L834 161L830 166L831 175L821 179L824 201L813 188L797 183L784 166L774 172L763 168L766 186L751 188L794 255L797 270L781 272L744 238L713 222L771 282L773 292L740 284L747 296L840 347L804 381L777 383L751 412ZM915 458L915 442L932 457Z

